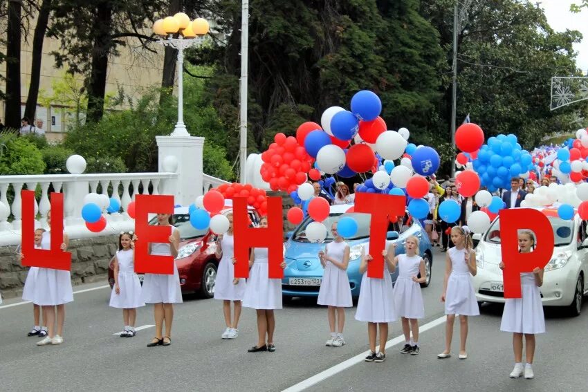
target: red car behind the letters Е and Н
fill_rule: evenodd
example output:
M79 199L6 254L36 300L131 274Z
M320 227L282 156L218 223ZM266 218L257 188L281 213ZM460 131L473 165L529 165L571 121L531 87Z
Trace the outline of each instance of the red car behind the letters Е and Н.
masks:
M221 213L228 214L232 210L231 207L230 200L227 200L226 208ZM251 221L257 224L259 217L255 209L250 208L248 212ZM190 224L188 207L176 207L174 226L180 231L180 248L176 265L182 292L198 292L204 298L212 298L219 265L219 260L214 255L217 249L214 243L216 236L208 229L198 230ZM112 288L114 286L113 261L109 266L108 283ZM139 279L143 283L143 274L139 274Z

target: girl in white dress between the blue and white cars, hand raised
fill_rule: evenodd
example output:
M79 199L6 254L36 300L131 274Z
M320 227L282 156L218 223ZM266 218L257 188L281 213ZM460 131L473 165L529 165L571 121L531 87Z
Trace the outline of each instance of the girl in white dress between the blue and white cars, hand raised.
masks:
M480 310L476 301L476 295L472 286L470 275L475 276L476 254L472 249L472 239L469 232L461 226L451 229L451 248L445 256L445 279L443 281L443 295L441 302L445 302L445 351L437 355L438 358L451 356L451 339L453 337L453 323L455 315L459 315L461 340L459 346L459 359L465 360L466 340L468 339L468 316L479 316Z

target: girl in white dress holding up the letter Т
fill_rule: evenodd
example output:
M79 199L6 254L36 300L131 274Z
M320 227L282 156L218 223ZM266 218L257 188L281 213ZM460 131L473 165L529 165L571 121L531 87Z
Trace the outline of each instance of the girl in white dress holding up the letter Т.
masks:
M384 362L386 360L388 323L394 322L398 318L394 306L392 278L390 277L390 273L395 270L394 247L389 245L387 250L382 251L382 255L384 256L384 278L369 278L367 277L367 263L373 258L370 254L365 254L365 250L362 248L359 272L363 274L363 277L361 278L356 320L367 321L370 353L365 358L366 362ZM378 326L380 328L380 351L376 354Z

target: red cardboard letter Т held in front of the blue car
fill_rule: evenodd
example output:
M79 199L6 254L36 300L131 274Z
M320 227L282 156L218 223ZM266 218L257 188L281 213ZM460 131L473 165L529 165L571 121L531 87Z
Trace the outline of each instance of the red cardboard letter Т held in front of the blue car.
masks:
M367 264L367 277L384 277L384 258L382 251L386 246L386 234L390 216L404 216L405 196L387 194L368 194L358 192L354 212L371 215L369 223L369 254L374 258Z

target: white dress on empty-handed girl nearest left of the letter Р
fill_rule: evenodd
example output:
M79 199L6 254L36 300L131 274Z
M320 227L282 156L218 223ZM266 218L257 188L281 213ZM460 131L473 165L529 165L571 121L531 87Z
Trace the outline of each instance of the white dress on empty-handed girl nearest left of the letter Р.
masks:
M466 250L454 247L448 250L448 254L451 259L451 274L445 292L445 315L479 316Z

